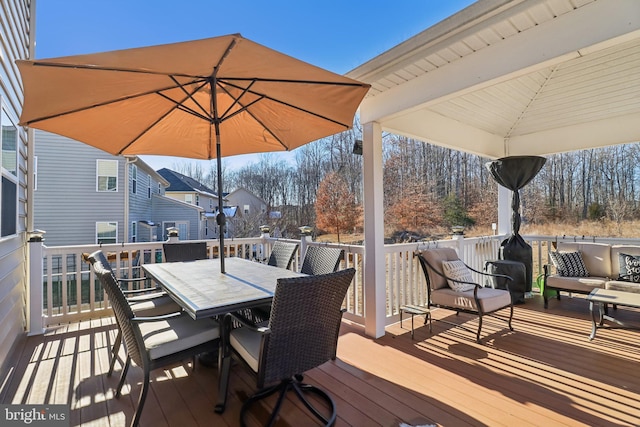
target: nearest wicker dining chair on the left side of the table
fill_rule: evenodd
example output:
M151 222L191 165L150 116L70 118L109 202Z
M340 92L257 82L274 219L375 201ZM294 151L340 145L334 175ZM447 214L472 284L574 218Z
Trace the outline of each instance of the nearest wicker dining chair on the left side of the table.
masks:
M220 328L213 319L193 320L184 312L162 316L137 317L118 286L110 269L97 259L93 262L96 276L109 295L118 326L122 330L127 361L116 389L119 398L129 366L133 360L144 371L142 390L131 426L137 426L149 390L150 372L215 349Z

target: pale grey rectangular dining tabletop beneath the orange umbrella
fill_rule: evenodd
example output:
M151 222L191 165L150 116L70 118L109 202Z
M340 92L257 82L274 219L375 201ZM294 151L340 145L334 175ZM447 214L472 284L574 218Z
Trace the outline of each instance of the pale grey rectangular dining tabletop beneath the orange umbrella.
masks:
M194 319L217 316L271 302L279 278L304 276L242 258L228 258L226 273L215 259L142 265Z

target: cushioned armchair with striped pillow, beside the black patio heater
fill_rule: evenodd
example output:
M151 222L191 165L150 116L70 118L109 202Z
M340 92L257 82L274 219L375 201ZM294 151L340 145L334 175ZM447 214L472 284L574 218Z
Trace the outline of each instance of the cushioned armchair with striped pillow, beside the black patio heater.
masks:
M478 330L476 342L480 343L482 319L492 316L508 323L513 331L513 303L509 293L511 277L503 274L489 274L472 269L464 264L455 249L437 248L416 252L422 271L427 280L427 301L429 307L442 307L460 312L478 315ZM448 273L445 273L448 271ZM487 277L501 277L507 279L506 290L484 287L473 281L471 272ZM509 307L509 317L495 316L494 313ZM433 319L437 320L437 319ZM440 320L443 321L444 320ZM448 323L448 322L447 322ZM457 323L454 326L462 327Z

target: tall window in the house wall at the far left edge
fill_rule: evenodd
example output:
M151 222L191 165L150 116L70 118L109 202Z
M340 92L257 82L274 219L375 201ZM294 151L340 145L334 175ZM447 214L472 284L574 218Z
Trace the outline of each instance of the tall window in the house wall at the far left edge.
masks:
M0 237L12 236L18 229L18 128L2 109L2 184L0 185Z

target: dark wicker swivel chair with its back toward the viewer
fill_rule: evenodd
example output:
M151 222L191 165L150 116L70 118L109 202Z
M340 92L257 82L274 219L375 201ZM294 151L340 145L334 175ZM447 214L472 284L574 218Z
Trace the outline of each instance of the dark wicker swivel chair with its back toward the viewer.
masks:
M242 405L240 425L245 425L245 415L255 402L279 393L268 423L273 425L289 390L295 391L320 421L333 425L336 408L331 396L302 381L306 371L336 357L342 303L354 275L355 269L349 268L318 276L278 279L267 327L257 327L234 313L225 315L216 412L225 409L231 355L235 354L256 374L258 388ZM232 328L232 322L242 326ZM312 404L305 397L308 393L319 397L328 409Z

